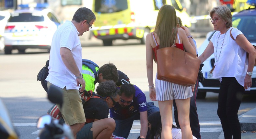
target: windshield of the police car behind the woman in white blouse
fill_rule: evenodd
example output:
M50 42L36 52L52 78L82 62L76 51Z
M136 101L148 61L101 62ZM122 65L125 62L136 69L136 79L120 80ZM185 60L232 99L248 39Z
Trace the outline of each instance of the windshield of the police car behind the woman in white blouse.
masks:
M235 16L232 20L233 27L238 28L250 42L256 42L255 16Z

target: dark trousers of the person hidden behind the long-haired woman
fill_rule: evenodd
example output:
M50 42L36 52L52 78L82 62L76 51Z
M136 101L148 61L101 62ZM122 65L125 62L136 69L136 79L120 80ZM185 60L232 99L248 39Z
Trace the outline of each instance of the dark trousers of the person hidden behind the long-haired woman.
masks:
M195 89L193 91L193 96L190 98L189 120L190 120L190 127L192 130L193 136L195 136L198 139L201 139L200 125L199 125L198 115L196 112L196 102L195 102L197 92L198 92L198 77L197 77L197 81L195 84ZM175 123L176 123L177 127L180 128L180 124L179 124L179 120L178 120L178 110L177 110L175 100L173 101L173 107L174 107Z

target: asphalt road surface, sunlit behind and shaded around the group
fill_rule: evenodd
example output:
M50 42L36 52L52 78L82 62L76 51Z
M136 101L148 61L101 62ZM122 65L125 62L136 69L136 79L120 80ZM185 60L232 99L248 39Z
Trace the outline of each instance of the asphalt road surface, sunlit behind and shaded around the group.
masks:
M204 38L195 38L198 46ZM99 66L114 63L117 68L128 75L130 81L144 91L148 98L148 83L146 77L145 45L137 40L115 41L114 46L104 47L101 41L82 40L82 55L84 59L91 59ZM41 83L36 80L37 73L45 65L49 53L40 49L28 49L26 54L4 55L0 51L0 97L6 104L21 139L35 139L39 130L35 127L37 119L46 114L52 106L46 99L46 92ZM154 65L154 73L156 73ZM206 99L197 100L197 112L201 125L202 139L217 139L221 132L221 125L217 116L218 94L208 92ZM256 96L245 95L239 109L239 115L256 107ZM158 106L157 102L155 105ZM139 120L128 138L139 136Z

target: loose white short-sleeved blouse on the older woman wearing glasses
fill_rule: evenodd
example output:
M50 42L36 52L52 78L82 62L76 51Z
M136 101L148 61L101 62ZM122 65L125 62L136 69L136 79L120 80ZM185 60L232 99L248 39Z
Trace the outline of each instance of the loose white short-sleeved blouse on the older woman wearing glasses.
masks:
M218 78L221 82L222 77L235 77L240 85L244 86L244 78L248 69L248 60L246 58L246 51L241 48L236 41L230 37L230 27L227 34L221 34L217 46L217 40L220 31L216 31L211 38L214 46L215 69L213 71L213 78ZM234 39L242 32L237 28L232 29L232 36ZM224 38L225 36L225 38ZM224 38L224 43L223 43ZM221 45L223 43L223 47ZM217 47L216 47L217 46ZM217 49L217 53L216 53ZM220 52L221 50L221 52ZM218 61L216 62L216 56Z

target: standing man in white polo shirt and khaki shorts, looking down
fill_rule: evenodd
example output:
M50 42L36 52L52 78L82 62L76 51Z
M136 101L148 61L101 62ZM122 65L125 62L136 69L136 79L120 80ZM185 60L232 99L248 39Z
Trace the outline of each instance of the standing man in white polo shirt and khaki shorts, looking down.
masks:
M81 73L82 47L78 36L89 31L95 20L96 17L90 9L81 7L74 14L72 21L66 21L60 26L52 38L49 75L46 80L48 88L55 85L62 89L64 103L62 108L57 106L75 138L86 122L78 91L85 89L85 80Z

